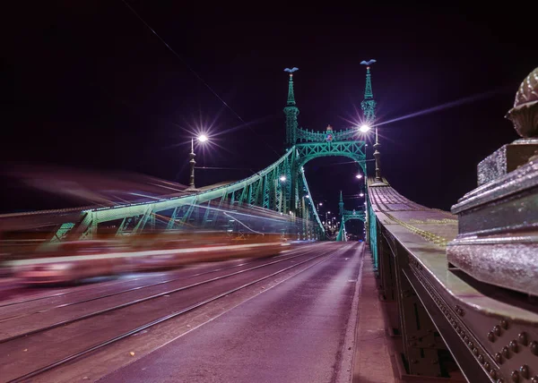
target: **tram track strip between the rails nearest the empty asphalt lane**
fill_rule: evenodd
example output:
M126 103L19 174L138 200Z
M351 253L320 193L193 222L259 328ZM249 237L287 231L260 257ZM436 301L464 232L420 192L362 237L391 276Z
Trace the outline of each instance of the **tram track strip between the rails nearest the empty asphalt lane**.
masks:
M261 265L207 278L134 301L123 302L42 328L4 336L0 339L0 353L11 356L9 359L13 362L9 363L4 359L3 365L0 365L0 375L7 382L22 382L34 378L48 370L56 369L88 353L152 328L166 320L178 318L209 302L278 276L292 268L299 268L311 262L311 265L307 266L310 268L341 251L322 246L319 250L301 251L292 256L281 256L277 260L272 258ZM235 267L239 265L230 268ZM200 290L202 286L207 287L205 291ZM191 292L190 296L186 294L187 291ZM159 300L163 297L167 297L166 302ZM126 319L129 320L126 321ZM54 345L50 344L51 339L55 340ZM30 349L31 353L28 353Z

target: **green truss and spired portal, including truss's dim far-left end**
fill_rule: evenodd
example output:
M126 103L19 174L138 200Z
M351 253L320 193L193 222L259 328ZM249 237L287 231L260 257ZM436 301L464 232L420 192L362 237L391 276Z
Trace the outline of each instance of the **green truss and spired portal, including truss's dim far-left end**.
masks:
M112 231L117 235L185 227L209 227L240 233L241 230L255 231L256 229L252 228L255 226L253 217L263 216L265 212L271 211L273 218L264 221L264 229L269 225L270 230L279 230L282 234L297 234L299 239L325 237L325 229L308 190L303 166L318 157L349 157L366 175L365 142L355 140L354 129L334 131L329 125L323 132L308 132L299 128L299 108L295 102L292 75L296 70L297 68L293 68L287 71L290 72L290 79L287 106L284 107L286 153L260 172L235 183L204 191L191 190L180 197L106 208L62 209L24 213L17 217L0 217L0 228L13 228L13 225L20 228L28 225L54 225L56 230L52 242L66 238L93 238L103 226L108 232ZM369 119L375 116L375 106L368 70L365 102L362 107ZM343 224L348 219L364 220L364 213L343 214L343 231Z

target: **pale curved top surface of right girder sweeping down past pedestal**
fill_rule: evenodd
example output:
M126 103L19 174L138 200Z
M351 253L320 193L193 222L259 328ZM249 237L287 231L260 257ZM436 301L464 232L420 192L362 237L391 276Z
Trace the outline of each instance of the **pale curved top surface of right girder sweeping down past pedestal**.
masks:
M463 273L448 269L446 248L457 234L456 216L412 202L388 184L374 183L369 193L379 223L409 252L415 260L410 258L410 263L415 263L430 283L442 286L462 307L487 316L520 323L538 321L536 305L523 294L476 283Z

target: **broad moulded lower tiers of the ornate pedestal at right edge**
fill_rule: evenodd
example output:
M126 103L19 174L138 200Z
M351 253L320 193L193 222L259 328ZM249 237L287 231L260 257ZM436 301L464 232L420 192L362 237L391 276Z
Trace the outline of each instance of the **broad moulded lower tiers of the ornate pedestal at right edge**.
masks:
M538 295L538 160L465 194L447 260L484 283Z

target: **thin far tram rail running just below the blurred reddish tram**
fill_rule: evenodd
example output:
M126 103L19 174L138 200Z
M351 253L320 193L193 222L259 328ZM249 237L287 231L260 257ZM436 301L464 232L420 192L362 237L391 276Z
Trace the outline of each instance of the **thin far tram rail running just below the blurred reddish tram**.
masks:
M297 254L297 256L300 256L301 254L304 254L305 252L308 252L308 250L304 250L304 249L296 249L296 250L301 251L301 252L299 252L299 254ZM277 257L283 257L285 255L289 255L289 254L284 253L284 254L278 255ZM282 258L281 260L287 260L287 259ZM166 279L166 280L163 280L163 281L151 283L149 285L134 286L134 287L127 288L125 290L117 291L117 292L114 292L114 293L98 295L98 296L91 297L89 299L83 299L82 301L62 303L62 304L58 304L56 306L50 307L50 308L48 308L46 310L30 311L30 312L25 312L25 313L20 314L20 315L13 315L13 316L10 316L10 317L0 318L0 323L4 323L4 322L7 322L7 321L13 320L13 319L21 319L21 318L24 318L24 317L27 317L27 316L30 316L30 315L40 314L40 313L55 310L55 309L58 309L58 308L74 306L76 304L92 302L92 301L100 300L100 299L103 299L103 298L116 296L116 295L119 295L119 294L126 294L126 293L134 292L134 291L137 291L137 290L143 290L144 288L149 288L149 287L153 287L153 286L157 286L157 285L165 285L165 284L169 284L169 283L176 282L176 281L179 281L179 280L184 280L184 279L187 279L187 278L200 277L200 276L203 276L203 275L206 275L206 274L212 274L212 273L227 270L227 269L230 269L230 268L239 268L239 267L243 267L245 265L256 263L256 262L259 262L259 259L250 260L250 261L247 261L247 262L239 263L238 265L233 265L233 266L229 266L229 267L225 267L225 268L216 268L216 269L212 269L212 270L208 270L208 271L204 271L204 272L200 272L200 273L196 273L196 274L192 274L192 275L174 277L174 278ZM133 279L131 281L133 281ZM66 294L69 294L69 293L66 293ZM56 298L56 295L50 295L50 297L51 298ZM46 299L46 298L44 297L42 299ZM23 302L24 301L22 301L21 303L23 303ZM26 302L33 302L33 300L26 301ZM2 308L2 306L0 306L0 309L1 308ZM2 343L2 340L0 340L0 343Z

